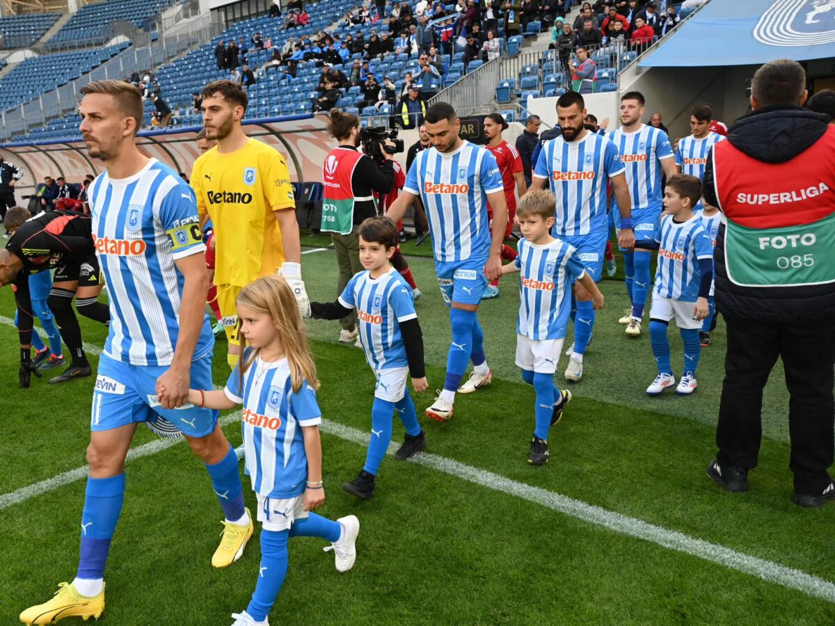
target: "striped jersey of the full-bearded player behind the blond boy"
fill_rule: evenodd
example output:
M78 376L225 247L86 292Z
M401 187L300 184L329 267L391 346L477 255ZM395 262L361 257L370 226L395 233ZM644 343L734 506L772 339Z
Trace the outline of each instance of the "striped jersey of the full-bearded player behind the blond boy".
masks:
M539 152L534 178L549 179L557 197L554 237L606 230L609 179L623 174L618 149L603 135L586 131L583 139L551 139Z

